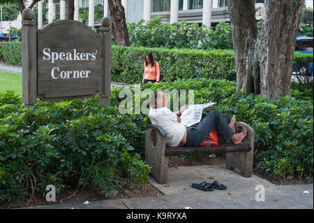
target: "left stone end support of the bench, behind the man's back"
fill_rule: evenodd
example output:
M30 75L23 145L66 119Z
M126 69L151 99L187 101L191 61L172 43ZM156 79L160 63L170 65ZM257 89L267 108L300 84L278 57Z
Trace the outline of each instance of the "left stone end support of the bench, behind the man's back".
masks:
M165 157L166 138L155 129L146 130L145 161L151 166L151 175L159 184L167 182L168 159Z

